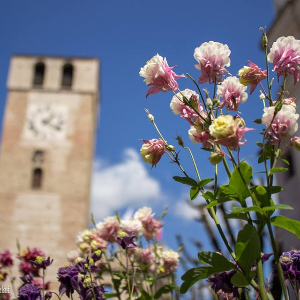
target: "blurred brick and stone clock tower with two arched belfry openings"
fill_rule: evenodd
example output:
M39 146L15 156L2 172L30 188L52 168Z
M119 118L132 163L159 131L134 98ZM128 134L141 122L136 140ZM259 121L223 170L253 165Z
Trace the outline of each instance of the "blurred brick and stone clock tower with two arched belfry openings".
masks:
M88 227L99 61L11 59L0 157L0 249L40 247L55 278Z

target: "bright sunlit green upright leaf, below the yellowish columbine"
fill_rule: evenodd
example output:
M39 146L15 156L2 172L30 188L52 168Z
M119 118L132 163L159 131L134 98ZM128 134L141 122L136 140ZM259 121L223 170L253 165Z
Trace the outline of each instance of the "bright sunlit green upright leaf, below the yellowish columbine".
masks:
M241 175L243 176L245 182L242 180ZM238 169L235 168L232 172L229 180L229 188L238 196L241 202L249 196L247 186L251 179L252 167L246 162L241 162L238 166Z

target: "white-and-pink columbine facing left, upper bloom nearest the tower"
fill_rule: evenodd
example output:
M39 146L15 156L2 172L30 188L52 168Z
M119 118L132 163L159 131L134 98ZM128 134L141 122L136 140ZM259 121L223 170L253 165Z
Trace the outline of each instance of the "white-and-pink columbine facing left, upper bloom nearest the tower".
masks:
M146 97L158 92L175 92L177 90L177 79L185 76L175 74L172 71L175 67L169 67L166 58L162 58L157 54L141 68L140 76L145 78L144 81L148 86L151 86L147 91Z

